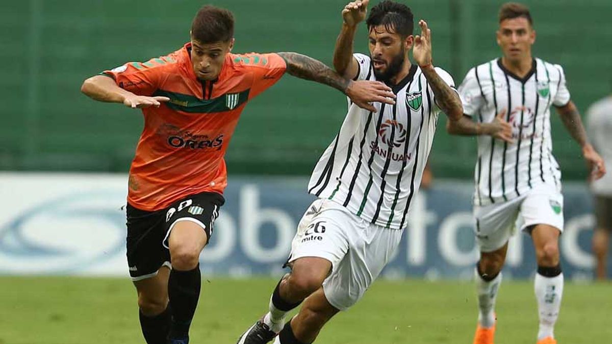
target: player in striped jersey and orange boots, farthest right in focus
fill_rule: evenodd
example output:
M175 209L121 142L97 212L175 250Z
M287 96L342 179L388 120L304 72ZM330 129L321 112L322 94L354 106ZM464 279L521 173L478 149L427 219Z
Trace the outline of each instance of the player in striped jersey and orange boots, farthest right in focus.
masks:
M537 343L553 344L563 293L558 248L563 196L561 172L552 154L551 105L580 144L593 178L600 178L605 168L570 100L563 69L532 57L535 31L527 7L501 7L497 42L502 58L469 70L459 88L465 116L447 125L450 133L478 136L474 217L480 247L479 317L474 343L493 343L501 269L509 237L518 226L531 234L535 247Z

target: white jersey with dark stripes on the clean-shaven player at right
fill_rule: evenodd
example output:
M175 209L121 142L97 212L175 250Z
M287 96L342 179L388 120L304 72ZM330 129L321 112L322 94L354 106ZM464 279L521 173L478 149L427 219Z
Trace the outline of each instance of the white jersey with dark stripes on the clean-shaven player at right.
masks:
M474 204L507 201L542 183L561 190L550 132L550 106L570 101L560 65L534 59L519 78L496 59L469 70L459 92L465 114L486 123L506 110L513 130L514 143L478 136Z

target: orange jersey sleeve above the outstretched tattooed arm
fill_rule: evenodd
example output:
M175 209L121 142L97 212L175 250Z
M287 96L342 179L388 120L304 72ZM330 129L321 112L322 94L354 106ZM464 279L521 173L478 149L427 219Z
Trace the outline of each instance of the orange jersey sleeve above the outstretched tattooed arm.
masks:
M239 55L239 57L249 60L250 63L245 64L245 67L253 73L253 85L248 94L249 99L252 99L275 84L285 74L287 69L285 59L275 53L250 53Z

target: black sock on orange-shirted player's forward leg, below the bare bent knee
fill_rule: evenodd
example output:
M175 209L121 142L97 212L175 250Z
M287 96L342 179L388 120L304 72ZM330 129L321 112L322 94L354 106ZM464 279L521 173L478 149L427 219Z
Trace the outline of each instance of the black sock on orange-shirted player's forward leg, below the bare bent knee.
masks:
M170 338L187 338L200 298L200 264L190 271L172 270L168 280L168 297L172 304Z

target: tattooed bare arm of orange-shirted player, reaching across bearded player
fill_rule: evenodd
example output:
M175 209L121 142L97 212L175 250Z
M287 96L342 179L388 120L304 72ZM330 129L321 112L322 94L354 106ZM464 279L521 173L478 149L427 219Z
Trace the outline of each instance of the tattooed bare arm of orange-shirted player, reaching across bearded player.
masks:
M353 81L341 77L323 62L298 53L277 53L285 59L287 73L305 80L332 86L348 95L360 108L376 111L371 102L395 103L395 94L379 81Z

